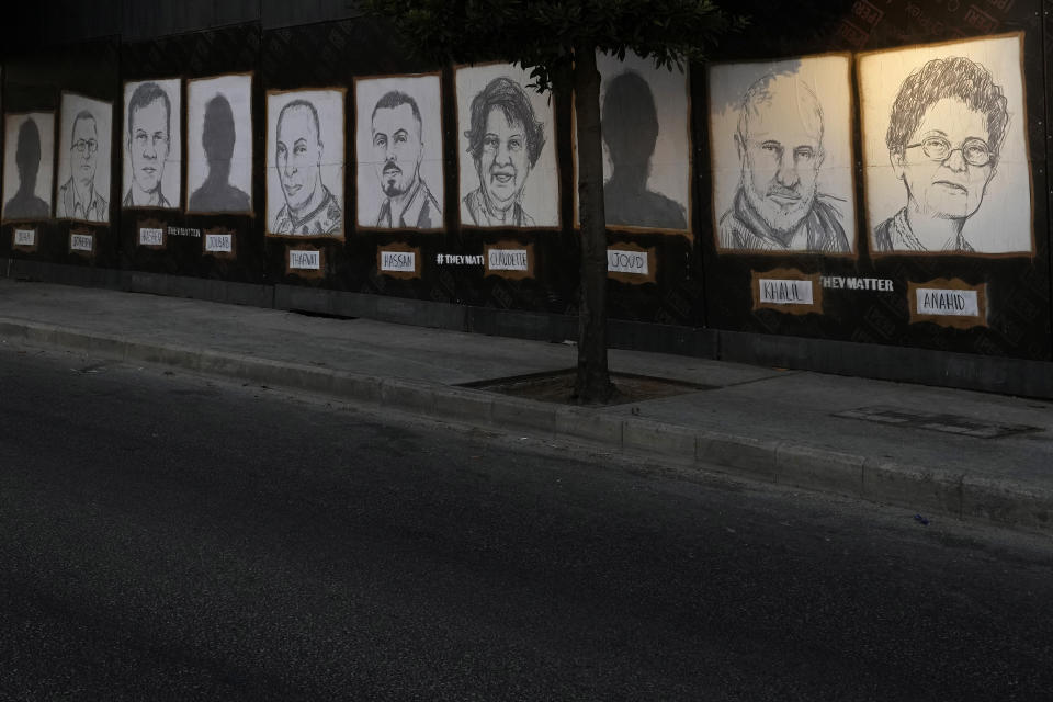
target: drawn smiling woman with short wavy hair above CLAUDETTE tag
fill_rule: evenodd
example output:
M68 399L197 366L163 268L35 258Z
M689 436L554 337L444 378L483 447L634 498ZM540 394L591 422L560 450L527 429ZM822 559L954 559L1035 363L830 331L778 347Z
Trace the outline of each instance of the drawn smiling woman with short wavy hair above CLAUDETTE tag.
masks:
M521 199L530 170L545 146L544 123L530 98L508 77L491 80L472 99L468 140L479 186L464 196L464 224L483 227L533 227Z

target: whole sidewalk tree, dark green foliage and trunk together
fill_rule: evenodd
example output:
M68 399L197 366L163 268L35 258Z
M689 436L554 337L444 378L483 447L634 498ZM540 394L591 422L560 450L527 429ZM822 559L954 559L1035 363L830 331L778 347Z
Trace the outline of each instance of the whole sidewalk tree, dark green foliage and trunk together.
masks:
M741 19L713 0L363 0L392 22L426 60L503 59L530 70L541 91L574 91L578 147L581 286L578 305L578 403L607 403L616 389L607 363L607 223L596 52L635 52L660 67L704 58Z

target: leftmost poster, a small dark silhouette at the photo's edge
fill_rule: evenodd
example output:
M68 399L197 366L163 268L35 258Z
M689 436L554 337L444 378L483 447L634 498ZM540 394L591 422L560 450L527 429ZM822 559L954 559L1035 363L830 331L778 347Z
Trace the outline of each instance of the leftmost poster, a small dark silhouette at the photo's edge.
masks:
M9 114L4 123L3 220L52 216L55 113Z

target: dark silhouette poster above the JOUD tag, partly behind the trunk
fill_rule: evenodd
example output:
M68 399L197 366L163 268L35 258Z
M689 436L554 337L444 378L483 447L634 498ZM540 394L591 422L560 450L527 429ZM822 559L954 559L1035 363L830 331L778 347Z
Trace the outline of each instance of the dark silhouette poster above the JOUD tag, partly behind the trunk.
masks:
M596 54L603 132L603 200L612 228L689 231L691 134L688 76L654 59ZM575 135L577 136L577 135ZM575 141L577 181L577 141ZM577 182L575 182L577 196ZM575 224L580 223L575 207Z

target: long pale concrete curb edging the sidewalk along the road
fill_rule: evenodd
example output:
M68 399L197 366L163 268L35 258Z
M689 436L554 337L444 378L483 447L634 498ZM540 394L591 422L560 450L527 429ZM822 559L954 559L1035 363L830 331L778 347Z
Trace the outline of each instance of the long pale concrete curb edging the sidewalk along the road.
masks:
M585 441L607 450L658 455L747 479L1053 534L1053 491L1007 480L623 417L602 409L554 406L441 383L377 377L247 354L129 340L12 318L0 318L0 337L320 393L440 420Z

